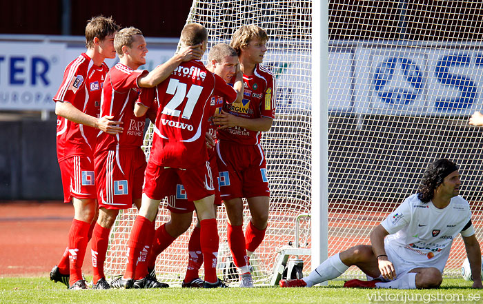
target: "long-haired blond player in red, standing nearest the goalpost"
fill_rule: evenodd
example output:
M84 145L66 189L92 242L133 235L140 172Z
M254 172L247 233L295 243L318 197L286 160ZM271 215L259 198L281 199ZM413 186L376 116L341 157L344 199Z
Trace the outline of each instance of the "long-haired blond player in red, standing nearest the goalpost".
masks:
M259 26L242 26L231 41L239 54L244 79L242 102L225 103L215 115L219 125L217 163L221 199L228 214L228 245L238 267L241 287L253 287L248 259L264 240L270 191L260 140L275 118L275 77L262 65L268 35ZM251 220L243 232L243 201Z

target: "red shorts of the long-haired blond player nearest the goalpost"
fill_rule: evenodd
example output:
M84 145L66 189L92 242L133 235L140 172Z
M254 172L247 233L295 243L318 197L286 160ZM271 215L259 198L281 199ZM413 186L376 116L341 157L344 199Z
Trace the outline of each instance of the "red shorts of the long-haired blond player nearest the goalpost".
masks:
M217 154L222 200L270 196L262 146L218 141Z

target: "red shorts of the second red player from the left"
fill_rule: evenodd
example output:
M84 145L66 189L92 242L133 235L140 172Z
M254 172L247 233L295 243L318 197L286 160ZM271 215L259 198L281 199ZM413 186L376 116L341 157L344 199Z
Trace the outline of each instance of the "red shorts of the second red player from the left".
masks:
M99 207L128 209L141 199L146 156L141 148L103 151L95 158Z

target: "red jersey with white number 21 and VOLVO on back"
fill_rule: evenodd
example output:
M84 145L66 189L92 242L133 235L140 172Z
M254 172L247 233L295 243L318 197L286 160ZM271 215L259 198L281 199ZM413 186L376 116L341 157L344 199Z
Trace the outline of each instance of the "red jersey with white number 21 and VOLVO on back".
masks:
M171 168L193 168L208 161L205 133L212 95L230 103L237 99L237 91L201 61L181 63L159 83L150 161Z

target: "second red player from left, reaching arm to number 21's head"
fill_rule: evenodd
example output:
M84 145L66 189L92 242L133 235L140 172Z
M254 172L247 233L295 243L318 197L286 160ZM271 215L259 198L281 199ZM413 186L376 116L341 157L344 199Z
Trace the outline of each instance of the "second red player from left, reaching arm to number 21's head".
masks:
M195 48L185 48L174 57L157 66L152 72L137 70L146 63L148 48L143 34L137 28L124 28L114 41L119 63L106 75L101 100L101 114L114 116L124 123L120 134L100 133L95 150L95 172L99 198L99 219L92 236L93 287L108 289L103 274L103 263L108 247L110 227L121 209L135 203L141 205L141 191L146 159L141 150L144 116L136 117L133 109L142 88L150 88L163 81L182 61L200 58ZM152 236L148 236L152 239ZM136 288L167 287L146 273L136 274Z

